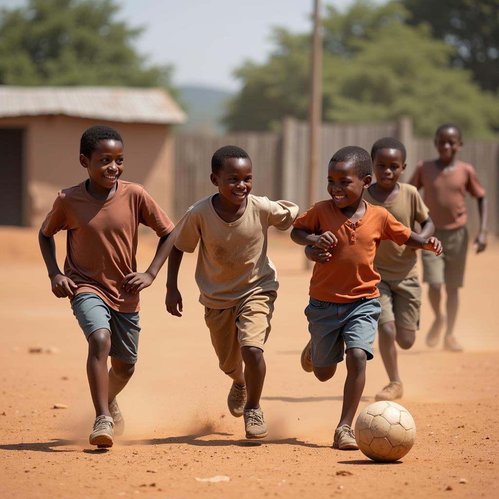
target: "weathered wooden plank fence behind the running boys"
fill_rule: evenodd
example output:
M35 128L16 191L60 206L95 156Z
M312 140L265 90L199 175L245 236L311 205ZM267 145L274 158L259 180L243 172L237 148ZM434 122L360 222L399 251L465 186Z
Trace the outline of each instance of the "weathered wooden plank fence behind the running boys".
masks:
M370 124L323 123L320 130L319 172L314 202L327 198L327 165L332 154L346 145L358 145L370 151L381 137L397 137L407 149L407 171L402 180L408 181L420 159L434 158L432 138L414 137L408 118ZM288 199L297 203L300 211L308 208L308 128L295 118L284 118L281 132L237 132L222 136L199 133L178 134L174 144L175 217L199 199L215 192L210 182L210 161L223 145L233 144L245 149L253 163L253 190L257 196ZM499 236L499 141L466 141L460 153L471 163L487 189L489 228ZM474 199L468 196L469 228L478 228L478 211Z

